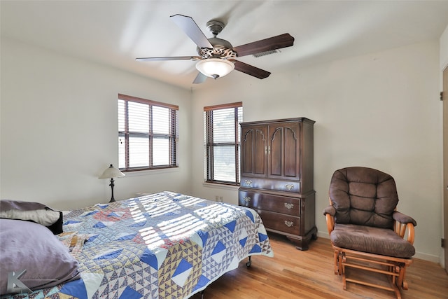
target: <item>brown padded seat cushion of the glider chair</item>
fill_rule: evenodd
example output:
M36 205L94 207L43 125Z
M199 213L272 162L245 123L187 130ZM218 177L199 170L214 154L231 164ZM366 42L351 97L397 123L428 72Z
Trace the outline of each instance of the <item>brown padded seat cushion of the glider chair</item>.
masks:
M382 256L411 258L415 254L412 244L388 228L336 223L330 239L332 244L340 248Z

